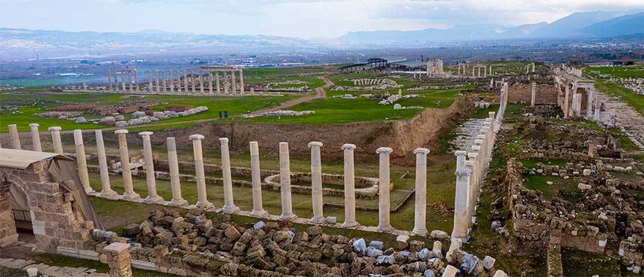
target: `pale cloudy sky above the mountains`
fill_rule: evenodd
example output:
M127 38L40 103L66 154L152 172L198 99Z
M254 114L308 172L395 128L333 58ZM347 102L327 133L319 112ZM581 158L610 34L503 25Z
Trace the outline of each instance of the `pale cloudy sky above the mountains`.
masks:
M519 25L642 0L0 0L0 28L338 37L355 30Z

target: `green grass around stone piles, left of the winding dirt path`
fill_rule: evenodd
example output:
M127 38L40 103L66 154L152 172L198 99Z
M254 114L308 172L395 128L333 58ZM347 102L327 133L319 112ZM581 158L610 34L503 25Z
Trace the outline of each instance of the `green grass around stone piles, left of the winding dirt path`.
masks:
M220 97L220 96L145 96L144 98L129 98L119 94L12 94L0 93L0 102L3 105L29 105L19 109L21 114L11 114L12 111L0 111L0 132L8 132L7 125L17 124L19 131L28 131L30 123L39 123L40 130L45 131L51 126L60 126L64 130L70 129L100 129L104 125L93 123L76 124L73 120L64 120L57 118L36 118L33 114L41 113L48 107L58 105L56 101L60 102L82 102L85 104L101 104L112 105L118 102L125 102L128 100L161 100L168 102L168 105L192 105L192 106L206 106L208 111L204 111L193 116L184 116L179 118L169 118L161 120L158 123L181 123L187 120L202 120L202 119L215 119L219 117L219 111L228 111L230 116L238 116L246 114L249 111L258 109L265 109L267 107L274 107L279 105L280 102L292 100L298 96L285 95L285 96L247 96L247 97ZM42 104L32 106L36 99L45 100ZM153 107L156 111L162 111L165 105ZM87 119L98 118L98 116L87 116ZM192 125L184 123L184 125L173 125L175 127ZM143 127L143 129L150 129ZM132 127L137 128L137 127Z

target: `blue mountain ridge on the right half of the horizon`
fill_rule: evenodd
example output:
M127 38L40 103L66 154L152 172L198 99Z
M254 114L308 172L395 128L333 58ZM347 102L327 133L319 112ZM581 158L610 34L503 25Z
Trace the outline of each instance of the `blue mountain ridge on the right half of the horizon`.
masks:
M346 43L455 41L472 39L573 39L614 37L644 33L644 12L575 12L551 24L540 22L507 27L497 24L454 26L447 29L377 30L350 32L339 39Z

